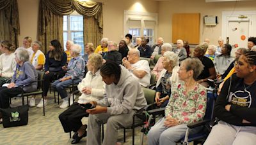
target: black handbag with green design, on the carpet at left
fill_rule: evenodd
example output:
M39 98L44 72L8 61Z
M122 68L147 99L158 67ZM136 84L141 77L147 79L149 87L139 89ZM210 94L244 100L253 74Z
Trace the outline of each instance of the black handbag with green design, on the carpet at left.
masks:
M0 108L3 115L3 127L17 127L28 124L28 105Z

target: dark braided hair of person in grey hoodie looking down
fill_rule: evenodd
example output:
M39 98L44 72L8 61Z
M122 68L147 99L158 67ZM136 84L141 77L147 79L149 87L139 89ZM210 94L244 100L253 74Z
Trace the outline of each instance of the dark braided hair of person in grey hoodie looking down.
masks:
M107 61L102 67L100 67L100 73L108 77L114 75L116 79L120 79L121 67L116 62Z

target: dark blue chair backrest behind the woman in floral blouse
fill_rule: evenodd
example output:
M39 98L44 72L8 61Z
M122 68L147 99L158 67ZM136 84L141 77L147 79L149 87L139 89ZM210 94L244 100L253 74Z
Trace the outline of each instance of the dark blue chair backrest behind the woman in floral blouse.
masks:
M213 118L213 109L214 109L214 93L207 92L207 107L205 111L205 119L212 120Z

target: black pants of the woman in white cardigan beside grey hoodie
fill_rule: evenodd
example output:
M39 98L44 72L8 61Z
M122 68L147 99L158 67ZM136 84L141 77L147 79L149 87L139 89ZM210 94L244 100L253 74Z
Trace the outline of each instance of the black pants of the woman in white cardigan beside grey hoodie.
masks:
M77 132L79 128L83 125L82 118L84 116L88 117L86 109L82 106L79 106L77 102L74 102L72 106L68 107L63 113L60 114L59 119L61 125L64 129L64 132Z

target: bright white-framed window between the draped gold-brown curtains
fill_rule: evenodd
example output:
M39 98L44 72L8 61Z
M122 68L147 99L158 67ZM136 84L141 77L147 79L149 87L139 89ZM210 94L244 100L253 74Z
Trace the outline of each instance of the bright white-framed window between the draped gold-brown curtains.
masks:
M63 46L66 49L68 40L77 45L81 45L84 54L84 34L83 34L83 16L82 15L65 15L63 16Z

